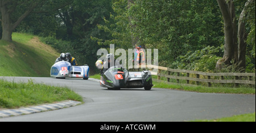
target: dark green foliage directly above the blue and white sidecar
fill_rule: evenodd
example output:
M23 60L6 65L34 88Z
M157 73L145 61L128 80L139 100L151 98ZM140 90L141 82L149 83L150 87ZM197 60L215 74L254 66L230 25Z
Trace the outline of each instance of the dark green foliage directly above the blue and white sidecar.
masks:
M71 53L79 65L93 66L90 69L93 72L97 50L108 46L100 46L91 38L106 40L111 37L97 25L104 24L104 19L109 19L112 11L112 1L108 0L74 0L68 7L61 8L57 14L62 25L56 32L59 41L52 40L54 47L60 53Z

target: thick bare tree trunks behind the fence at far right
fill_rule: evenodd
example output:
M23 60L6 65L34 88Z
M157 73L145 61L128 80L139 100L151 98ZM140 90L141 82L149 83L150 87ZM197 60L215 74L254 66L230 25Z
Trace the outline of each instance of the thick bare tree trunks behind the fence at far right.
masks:
M245 68L246 36L244 16L248 14L246 7L255 2L255 0L248 0L245 3L238 20L238 27L234 1L217 0L217 2L224 20L225 44L224 55L217 61L216 68L221 69L223 65L232 65L232 63L236 62L240 62L241 67Z

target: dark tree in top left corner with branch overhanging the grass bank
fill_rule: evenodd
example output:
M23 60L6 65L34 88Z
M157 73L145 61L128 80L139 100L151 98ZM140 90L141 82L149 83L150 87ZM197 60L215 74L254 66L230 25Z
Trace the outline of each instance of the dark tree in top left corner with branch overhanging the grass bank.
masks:
M2 23L2 40L12 41L11 34L14 29L31 12L49 12L67 6L71 1L46 1L46 0L0 0ZM38 10L36 10L38 8ZM22 12L22 14L19 14Z

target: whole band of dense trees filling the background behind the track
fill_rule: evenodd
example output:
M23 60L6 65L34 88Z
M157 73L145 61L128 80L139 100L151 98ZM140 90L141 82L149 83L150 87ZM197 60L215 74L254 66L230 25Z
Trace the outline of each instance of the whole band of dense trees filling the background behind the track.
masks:
M160 66L215 71L242 62L255 72L255 0L1 0L0 9L2 40L11 41L12 31L39 35L80 65L94 66L109 44L137 44L159 49Z

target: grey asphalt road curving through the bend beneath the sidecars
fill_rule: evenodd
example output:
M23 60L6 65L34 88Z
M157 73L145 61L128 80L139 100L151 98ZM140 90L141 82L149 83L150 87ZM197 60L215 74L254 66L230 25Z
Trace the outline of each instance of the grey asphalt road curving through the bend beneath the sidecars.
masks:
M3 77L0 77L2 79ZM255 112L255 95L196 93L152 88L151 91L100 87L94 79L5 77L68 86L84 104L53 111L0 118L0 121L166 122L231 117Z

